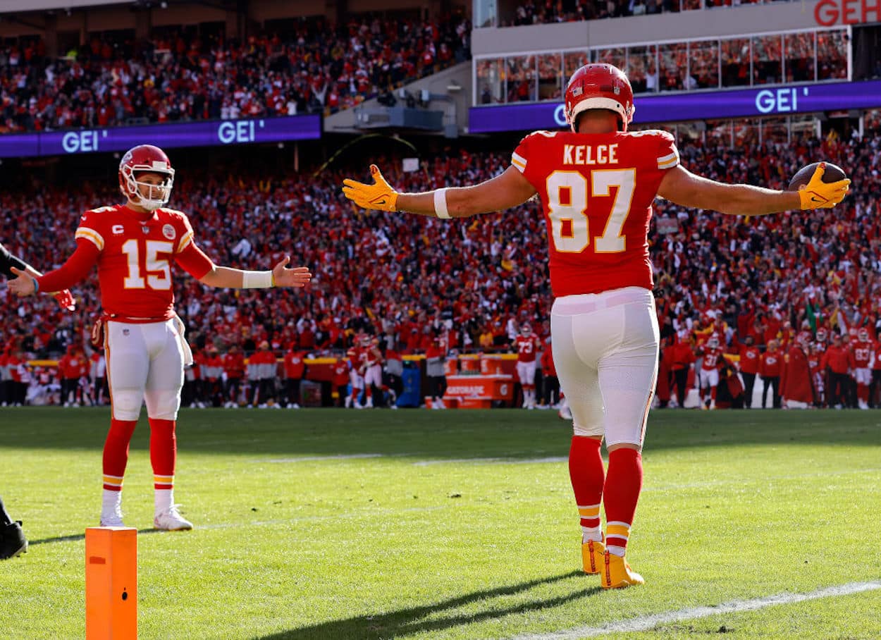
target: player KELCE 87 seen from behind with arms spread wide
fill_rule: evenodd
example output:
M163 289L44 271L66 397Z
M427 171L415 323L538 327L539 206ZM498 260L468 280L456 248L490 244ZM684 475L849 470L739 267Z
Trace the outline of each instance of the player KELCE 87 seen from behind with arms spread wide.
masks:
M586 64L566 86L570 131L523 138L511 166L470 187L398 193L371 165L373 184L343 182L356 205L437 218L466 218L541 198L550 242L555 301L553 357L572 409L569 471L581 516L584 570L604 588L642 584L625 561L642 486L642 448L655 390L659 331L652 296L648 226L656 196L677 205L762 215L838 204L850 181L822 182L824 166L801 191L723 184L679 164L673 137L629 132L633 90L610 64ZM600 445L606 440L609 470ZM606 531L600 529L600 504Z

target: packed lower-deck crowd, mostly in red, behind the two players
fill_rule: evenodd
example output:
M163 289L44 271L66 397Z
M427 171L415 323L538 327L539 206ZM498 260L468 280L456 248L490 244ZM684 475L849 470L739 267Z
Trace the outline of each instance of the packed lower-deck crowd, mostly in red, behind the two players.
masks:
M745 140L736 148L714 138L680 140L680 153L685 167L697 173L772 188L784 187L799 167L823 158L847 167L854 188L834 212L751 220L656 201L650 238L663 403L684 402L687 389L684 381L677 384L676 371L684 367L694 376L710 361L702 353L711 336L726 354L718 366L730 362L735 368L748 336L759 350L756 357L777 349L785 355L801 331L810 334L804 344L817 345L811 348L820 355L826 345L816 342L818 333L830 343L840 336L844 346L860 329L872 340L881 337L881 203L873 197L881 190L881 119L867 121L862 139L832 133L791 144ZM478 182L509 161L505 153L459 150L402 173L399 162L378 160L390 182L410 191ZM218 263L265 269L284 250L315 272L301 294L213 291L177 279L178 310L196 352L223 355L236 347L250 355L265 343L263 350L279 358L288 351L341 355L362 334L398 354L426 353L439 344L444 353L509 350L524 323L546 339L552 297L546 264L535 259L546 252L536 202L521 212L455 224L363 213L339 193L341 176L352 170L270 181L181 173L172 206L189 213L196 241ZM112 190L90 185L4 192L0 240L37 268L49 269L72 251L80 212L115 200ZM93 275L75 290L79 310L73 316L56 309L51 298L10 300L0 287L0 302L15 309L0 329L7 379L9 358L19 363L56 357L85 344L99 309L95 284ZM881 382L881 354L870 366ZM838 373L849 376L855 368L845 361ZM780 383L785 397L786 381ZM853 404L854 394L844 395L842 384L836 396L809 404Z

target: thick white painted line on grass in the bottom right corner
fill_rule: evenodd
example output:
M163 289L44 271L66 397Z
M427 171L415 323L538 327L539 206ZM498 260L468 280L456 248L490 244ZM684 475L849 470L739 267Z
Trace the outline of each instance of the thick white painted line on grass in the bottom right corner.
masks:
M655 626L659 624L667 622L695 620L697 618L707 618L708 616L718 614L739 614L744 611L756 611L757 609L763 609L765 607L791 605L796 602L804 602L805 600L815 600L819 598L837 598L838 596L869 592L875 589L881 589L881 580L841 584L839 586L818 589L815 592L809 593L780 593L775 596L766 596L764 598L751 600L734 600L732 602L724 602L721 605L716 605L714 607L693 607L690 609L668 611L663 614L640 615L629 620L609 622L600 627L584 626L574 627L573 629L564 629L562 631L550 631L548 633L521 634L519 636L514 636L511 640L576 640L576 638L605 636L610 633L648 631L654 629Z

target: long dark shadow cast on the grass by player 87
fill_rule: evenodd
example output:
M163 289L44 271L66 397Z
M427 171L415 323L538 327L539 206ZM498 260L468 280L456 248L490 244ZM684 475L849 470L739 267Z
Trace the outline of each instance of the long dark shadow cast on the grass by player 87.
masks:
M510 596L525 592L539 584L551 584L566 580L570 577L584 576L581 571L560 574L559 576L546 577L541 580L531 580L521 584L487 589L473 592L459 598L443 600L433 605L424 607L411 607L398 609L384 614L360 615L344 620L319 622L317 624L289 629L269 636L259 636L255 640L368 640L372 638L393 638L410 636L411 634L426 631L438 631L451 629L465 624L502 618L510 614L523 614L530 611L540 611L550 607L559 607L574 599L585 598L603 591L599 586L584 587L563 596L548 599L533 599L511 607L492 607L476 614L449 614L441 617L432 617L431 620L423 620L428 616L441 614L448 609L455 609L478 602L484 599Z

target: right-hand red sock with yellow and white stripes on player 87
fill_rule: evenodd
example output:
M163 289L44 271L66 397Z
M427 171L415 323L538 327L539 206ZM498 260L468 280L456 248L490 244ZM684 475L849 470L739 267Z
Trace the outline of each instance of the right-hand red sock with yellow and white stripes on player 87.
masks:
M609 473L603 487L606 512L606 548L624 555L636 502L642 489L642 454L635 449L616 449L609 454Z

